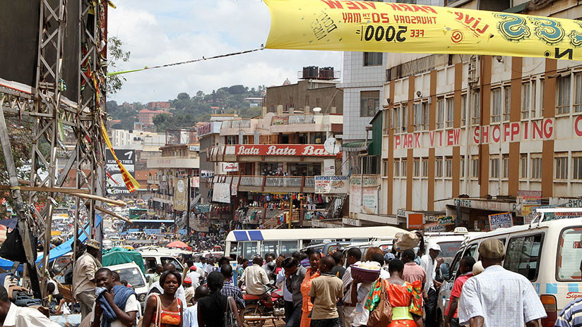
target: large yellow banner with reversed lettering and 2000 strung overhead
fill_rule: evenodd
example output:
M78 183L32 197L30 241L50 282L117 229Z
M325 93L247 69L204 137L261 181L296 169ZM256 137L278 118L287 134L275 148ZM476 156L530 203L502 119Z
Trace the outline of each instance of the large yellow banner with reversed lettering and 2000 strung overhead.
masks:
M582 22L374 1L264 0L270 49L582 60Z

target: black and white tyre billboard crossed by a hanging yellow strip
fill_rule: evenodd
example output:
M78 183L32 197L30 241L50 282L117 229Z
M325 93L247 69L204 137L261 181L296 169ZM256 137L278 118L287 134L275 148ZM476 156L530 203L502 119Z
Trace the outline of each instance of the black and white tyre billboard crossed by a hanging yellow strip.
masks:
M121 150L114 149L117 159L123 163L126 170L133 177L136 175L136 150ZM111 175L111 178L107 178L107 187L112 190L114 194L129 194L129 190L124 183L124 178L121 173L121 169L115 160L115 157L111 153L111 150L105 149L105 171Z

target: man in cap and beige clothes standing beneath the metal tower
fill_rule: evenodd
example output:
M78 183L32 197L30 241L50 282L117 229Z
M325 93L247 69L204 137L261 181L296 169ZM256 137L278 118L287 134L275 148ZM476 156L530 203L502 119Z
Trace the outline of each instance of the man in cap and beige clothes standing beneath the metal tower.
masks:
M99 242L87 240L87 251L77 259L73 270L73 295L81 306L81 321L91 313L95 304L95 272L101 268L97 261L100 250Z

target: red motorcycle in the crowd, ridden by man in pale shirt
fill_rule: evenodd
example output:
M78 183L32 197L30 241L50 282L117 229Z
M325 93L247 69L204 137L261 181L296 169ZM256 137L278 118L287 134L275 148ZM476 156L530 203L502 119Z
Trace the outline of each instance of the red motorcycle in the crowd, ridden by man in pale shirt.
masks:
M240 312L243 326L263 327L268 319L276 326L275 320L285 319L285 300L279 293L276 288L268 288L265 295L243 294L246 304ZM268 297L271 297L271 301L268 301Z

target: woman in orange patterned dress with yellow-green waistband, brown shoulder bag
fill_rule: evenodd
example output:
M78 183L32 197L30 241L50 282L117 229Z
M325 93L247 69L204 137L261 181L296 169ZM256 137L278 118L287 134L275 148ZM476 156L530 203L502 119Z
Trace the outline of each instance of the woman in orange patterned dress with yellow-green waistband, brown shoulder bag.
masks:
M366 300L365 308L374 311L380 303L382 289L387 290L392 307L392 322L387 327L422 327L422 283L408 283L402 279L404 263L393 259L388 264L390 278L378 278Z

